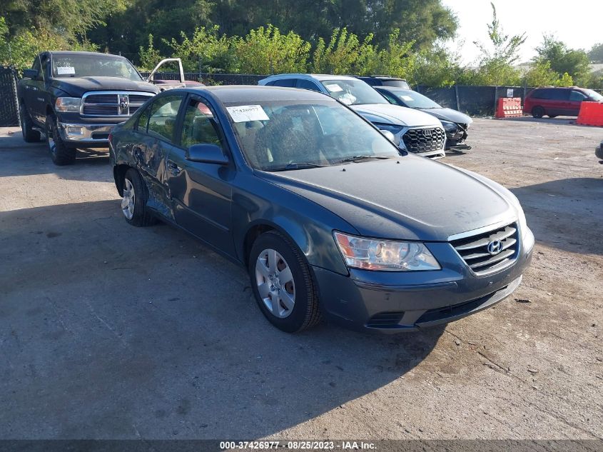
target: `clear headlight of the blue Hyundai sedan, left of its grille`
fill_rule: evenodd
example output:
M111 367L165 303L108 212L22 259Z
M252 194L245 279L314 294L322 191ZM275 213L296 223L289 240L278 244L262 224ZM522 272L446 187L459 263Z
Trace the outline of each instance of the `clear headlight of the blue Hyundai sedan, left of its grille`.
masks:
M442 268L427 247L420 242L363 238L340 232L333 235L349 267L385 271L425 271Z

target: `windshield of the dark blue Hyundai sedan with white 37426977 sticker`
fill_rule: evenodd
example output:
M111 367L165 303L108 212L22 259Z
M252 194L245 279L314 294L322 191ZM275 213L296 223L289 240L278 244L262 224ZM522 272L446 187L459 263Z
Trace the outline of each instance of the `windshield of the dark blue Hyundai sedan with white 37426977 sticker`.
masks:
M330 99L226 104L247 161L263 171L331 166L400 156L360 116Z

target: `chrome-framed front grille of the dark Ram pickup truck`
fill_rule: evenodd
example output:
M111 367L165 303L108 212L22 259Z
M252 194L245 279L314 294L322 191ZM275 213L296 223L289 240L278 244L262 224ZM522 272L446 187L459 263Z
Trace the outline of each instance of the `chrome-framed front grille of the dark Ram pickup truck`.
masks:
M154 95L143 92L91 91L82 96L81 114L86 116L131 116Z

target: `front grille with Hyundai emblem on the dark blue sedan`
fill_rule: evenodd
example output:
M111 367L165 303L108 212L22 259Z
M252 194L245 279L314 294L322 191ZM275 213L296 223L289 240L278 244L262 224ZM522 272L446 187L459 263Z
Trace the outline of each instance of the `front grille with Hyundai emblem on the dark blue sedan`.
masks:
M504 268L517 258L517 224L451 241L457 253L475 273Z

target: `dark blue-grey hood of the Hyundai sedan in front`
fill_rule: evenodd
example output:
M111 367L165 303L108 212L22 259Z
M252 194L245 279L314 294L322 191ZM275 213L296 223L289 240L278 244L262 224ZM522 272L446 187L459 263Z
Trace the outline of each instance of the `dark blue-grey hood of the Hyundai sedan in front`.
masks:
M368 237L447 241L518 215L517 199L502 186L419 156L260 174Z

